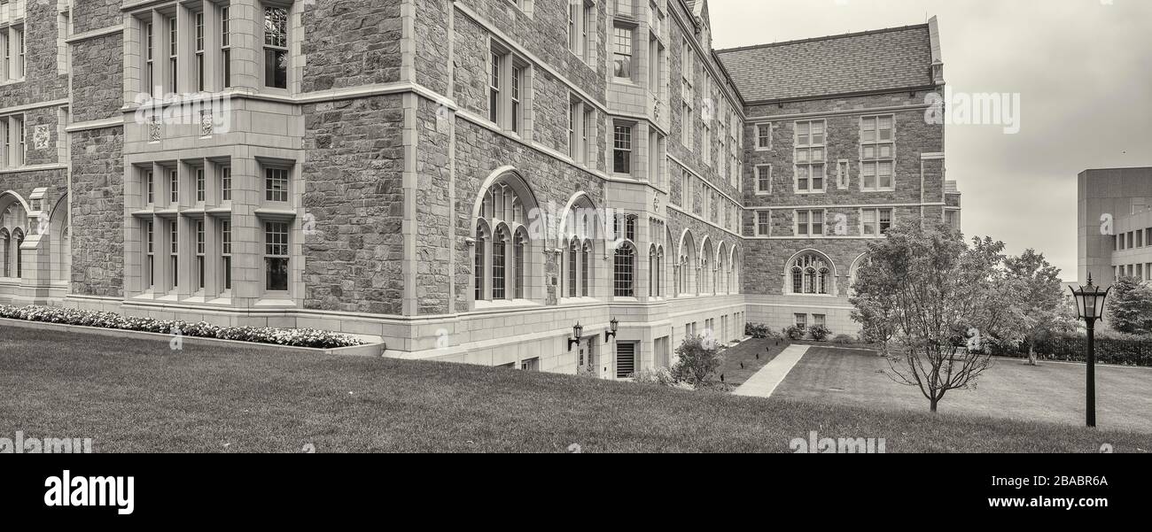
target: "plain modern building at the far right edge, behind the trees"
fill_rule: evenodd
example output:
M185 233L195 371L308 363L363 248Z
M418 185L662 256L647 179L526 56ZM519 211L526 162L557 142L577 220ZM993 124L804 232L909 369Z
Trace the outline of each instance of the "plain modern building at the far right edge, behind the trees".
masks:
M1152 281L1152 167L1084 170L1077 187L1079 283Z

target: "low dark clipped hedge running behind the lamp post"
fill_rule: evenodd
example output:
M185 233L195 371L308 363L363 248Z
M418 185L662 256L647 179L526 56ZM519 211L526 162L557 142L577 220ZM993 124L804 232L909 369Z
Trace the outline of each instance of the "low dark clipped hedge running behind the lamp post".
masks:
M987 350L1000 357L1028 358L1028 345L999 345L990 342ZM1036 342L1040 360L1086 362L1087 337L1052 336ZM1096 339L1096 362L1123 366L1152 366L1152 340Z

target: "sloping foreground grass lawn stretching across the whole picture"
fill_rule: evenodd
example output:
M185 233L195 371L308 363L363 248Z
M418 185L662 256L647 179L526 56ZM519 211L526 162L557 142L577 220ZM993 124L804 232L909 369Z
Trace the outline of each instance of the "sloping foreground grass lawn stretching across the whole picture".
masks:
M735 397L461 364L213 351L0 329L0 436L98 453L788 451L810 431L900 451L1117 451L1150 436Z

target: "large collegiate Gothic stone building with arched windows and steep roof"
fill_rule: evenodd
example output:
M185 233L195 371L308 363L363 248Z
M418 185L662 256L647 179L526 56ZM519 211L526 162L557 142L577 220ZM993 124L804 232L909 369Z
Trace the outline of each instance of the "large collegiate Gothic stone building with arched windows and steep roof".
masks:
M704 0L0 12L0 302L621 378L855 333L867 241L958 223L934 20L714 51Z

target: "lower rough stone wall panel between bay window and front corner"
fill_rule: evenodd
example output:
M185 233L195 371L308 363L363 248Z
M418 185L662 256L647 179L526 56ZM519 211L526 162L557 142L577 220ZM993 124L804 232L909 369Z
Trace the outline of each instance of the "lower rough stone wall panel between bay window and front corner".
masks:
M304 106L304 307L400 314L401 96Z

